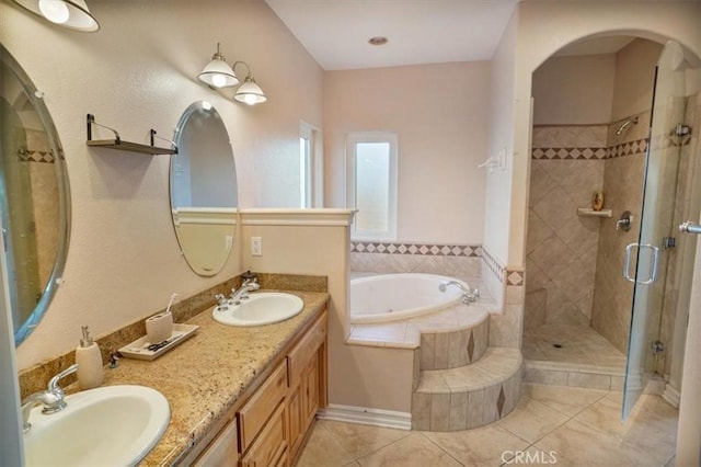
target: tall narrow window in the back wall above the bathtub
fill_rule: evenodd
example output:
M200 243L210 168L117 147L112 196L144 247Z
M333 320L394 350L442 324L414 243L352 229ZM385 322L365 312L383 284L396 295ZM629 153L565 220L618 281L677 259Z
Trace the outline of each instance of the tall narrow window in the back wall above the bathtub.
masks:
M397 238L397 146L393 133L347 137L348 207L358 209L354 239Z

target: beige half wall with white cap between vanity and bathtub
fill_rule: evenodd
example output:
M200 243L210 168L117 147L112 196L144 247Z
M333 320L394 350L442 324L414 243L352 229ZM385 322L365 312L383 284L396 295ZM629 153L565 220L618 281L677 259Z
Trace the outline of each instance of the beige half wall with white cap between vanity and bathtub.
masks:
M347 345L349 224L345 209L244 209L243 265L257 272L329 277L329 401L335 406L411 411L414 351ZM261 237L263 255L251 255Z

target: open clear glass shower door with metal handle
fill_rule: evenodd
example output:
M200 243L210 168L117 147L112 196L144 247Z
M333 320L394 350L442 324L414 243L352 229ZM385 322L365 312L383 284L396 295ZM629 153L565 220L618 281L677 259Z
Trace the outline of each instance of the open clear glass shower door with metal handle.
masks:
M655 372L665 298L668 252L680 146L676 128L683 122L686 61L681 46L669 42L655 72L650 140L645 162L643 206L637 243L625 251L625 277L634 283L633 309L625 368L623 420L630 414Z

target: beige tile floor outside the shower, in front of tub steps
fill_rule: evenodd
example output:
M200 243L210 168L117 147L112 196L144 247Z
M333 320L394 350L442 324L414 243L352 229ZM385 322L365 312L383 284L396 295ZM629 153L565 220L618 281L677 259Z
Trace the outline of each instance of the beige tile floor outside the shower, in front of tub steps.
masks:
M524 385L512 413L473 430L432 433L319 420L297 466L674 465L677 410L644 395L621 424L620 408L618 391Z

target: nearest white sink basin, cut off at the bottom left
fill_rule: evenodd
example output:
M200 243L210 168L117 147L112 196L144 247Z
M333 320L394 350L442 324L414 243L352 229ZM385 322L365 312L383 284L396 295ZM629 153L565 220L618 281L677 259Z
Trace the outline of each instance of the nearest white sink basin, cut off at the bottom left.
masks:
M66 396L60 412L32 409L26 466L131 466L168 428L168 399L145 386L105 386Z

